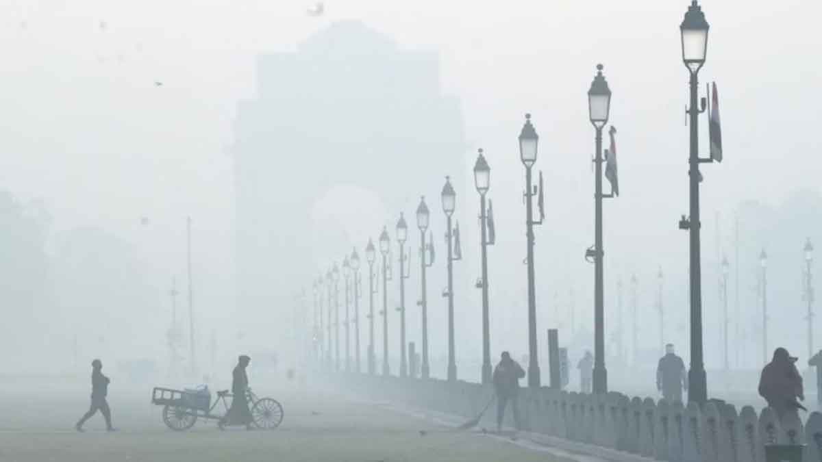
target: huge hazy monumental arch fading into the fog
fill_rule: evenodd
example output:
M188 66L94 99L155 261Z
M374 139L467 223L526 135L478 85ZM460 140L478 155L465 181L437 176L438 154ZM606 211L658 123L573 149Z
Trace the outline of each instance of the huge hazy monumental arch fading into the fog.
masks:
M283 304L302 288L310 307L317 265L341 261L354 244L366 266L363 247L380 229L353 235L312 218L335 187L374 196L393 240L401 204L413 198L404 210L413 226L418 196L436 213L444 176L459 191L469 173L459 101L441 94L437 54L400 49L358 21L330 25L296 53L261 56L256 98L239 104L234 131L238 309L250 322L278 306L290 316ZM291 335L289 319L279 326Z

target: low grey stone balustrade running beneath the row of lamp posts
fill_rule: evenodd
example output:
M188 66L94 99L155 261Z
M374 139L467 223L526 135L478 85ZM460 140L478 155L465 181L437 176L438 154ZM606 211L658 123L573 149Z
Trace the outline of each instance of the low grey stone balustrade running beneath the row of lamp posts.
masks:
M476 383L345 375L348 390L376 400L417 409L474 418L492 399L493 389ZM803 425L779 423L772 409L759 414L750 406L737 412L731 404L695 404L629 398L620 393L584 395L523 388L519 397L521 427L626 455L672 462L764 462L764 446L806 444L805 461L822 462L822 413L810 413ZM493 406L492 406L493 408ZM495 425L489 409L481 425ZM510 410L506 425L513 426Z

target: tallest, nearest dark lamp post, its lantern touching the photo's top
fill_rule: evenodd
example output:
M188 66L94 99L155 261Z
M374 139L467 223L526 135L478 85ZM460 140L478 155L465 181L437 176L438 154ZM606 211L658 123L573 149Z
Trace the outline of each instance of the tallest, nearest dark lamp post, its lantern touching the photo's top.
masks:
M705 63L708 52L708 22L702 8L693 0L680 25L682 62L690 73L690 218L680 222L681 229L690 232L690 371L688 372L688 401L704 404L708 401L708 382L705 376L702 347L702 270L700 262L700 159L699 115L704 111L697 106L697 74ZM704 100L703 100L704 101Z

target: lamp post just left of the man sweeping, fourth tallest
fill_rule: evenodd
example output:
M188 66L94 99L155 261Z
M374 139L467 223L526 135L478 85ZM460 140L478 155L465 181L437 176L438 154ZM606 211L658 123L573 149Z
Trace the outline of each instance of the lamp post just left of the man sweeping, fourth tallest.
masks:
M488 256L487 247L492 244L488 242L487 229L487 209L485 207L485 195L491 187L491 168L480 149L477 155L477 162L473 164L473 182L479 192L479 229L480 229L480 256L482 261L482 276L478 284L483 289L483 384L492 382L491 376L491 335L488 320Z

